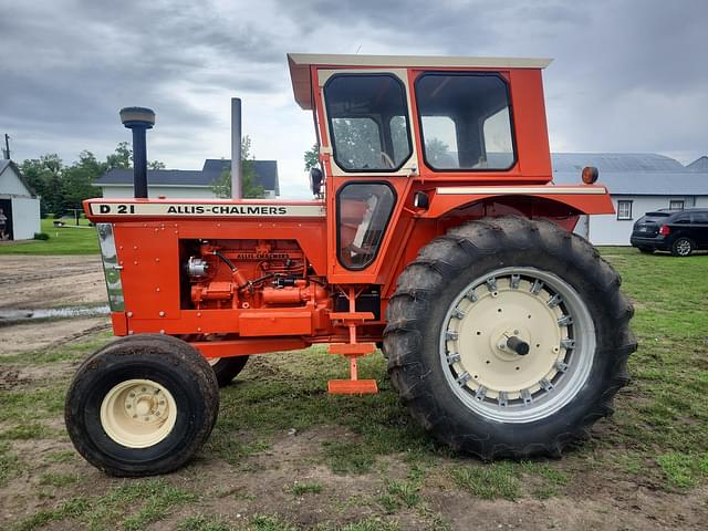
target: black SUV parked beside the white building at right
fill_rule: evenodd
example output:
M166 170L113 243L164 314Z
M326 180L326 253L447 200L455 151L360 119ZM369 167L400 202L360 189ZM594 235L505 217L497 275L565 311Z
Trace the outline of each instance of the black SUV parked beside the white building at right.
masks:
M629 241L642 252L671 251L675 257L708 249L708 209L647 212L634 223Z

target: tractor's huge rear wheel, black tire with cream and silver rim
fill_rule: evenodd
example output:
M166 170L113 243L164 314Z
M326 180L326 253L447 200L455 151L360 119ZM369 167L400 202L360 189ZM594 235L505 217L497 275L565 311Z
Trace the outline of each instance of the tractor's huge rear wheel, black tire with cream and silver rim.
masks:
M636 341L620 283L587 241L549 221L451 229L398 279L384 332L392 383L455 449L558 456L612 414L628 381ZM509 350L509 334L528 355Z

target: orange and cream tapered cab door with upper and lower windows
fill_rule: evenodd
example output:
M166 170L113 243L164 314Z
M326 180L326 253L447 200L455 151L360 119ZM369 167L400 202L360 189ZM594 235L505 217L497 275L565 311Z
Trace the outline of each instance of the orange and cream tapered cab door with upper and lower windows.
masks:
M417 175L405 70L320 70L332 282L375 282Z

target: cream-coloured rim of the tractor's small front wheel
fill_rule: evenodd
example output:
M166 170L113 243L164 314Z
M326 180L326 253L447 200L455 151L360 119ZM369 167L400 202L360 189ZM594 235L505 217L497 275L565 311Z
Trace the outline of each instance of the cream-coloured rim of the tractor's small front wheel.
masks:
M147 448L175 427L177 404L171 393L152 379L127 379L113 387L101 404L101 426L128 448Z

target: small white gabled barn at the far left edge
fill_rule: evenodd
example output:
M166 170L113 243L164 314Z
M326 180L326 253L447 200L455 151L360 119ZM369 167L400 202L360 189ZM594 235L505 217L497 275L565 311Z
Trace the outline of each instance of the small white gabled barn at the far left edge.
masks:
M12 160L0 160L0 240L31 240L40 232L40 199Z

